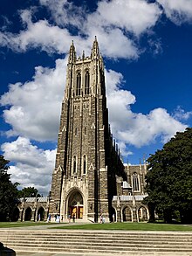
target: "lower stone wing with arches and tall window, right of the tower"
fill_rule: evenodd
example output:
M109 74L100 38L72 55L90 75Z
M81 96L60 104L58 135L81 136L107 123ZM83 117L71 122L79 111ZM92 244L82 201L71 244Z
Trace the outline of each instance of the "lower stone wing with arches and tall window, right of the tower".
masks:
M147 221L149 212L142 200L145 192L145 176L147 164L125 165L127 181L116 176L117 196L113 197L113 214L117 221Z

